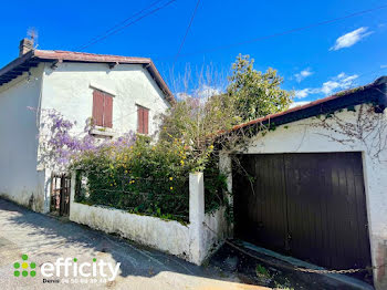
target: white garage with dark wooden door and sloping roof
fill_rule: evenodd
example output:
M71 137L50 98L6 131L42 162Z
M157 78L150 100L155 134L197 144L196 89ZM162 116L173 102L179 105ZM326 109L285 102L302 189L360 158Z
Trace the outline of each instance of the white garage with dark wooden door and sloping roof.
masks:
M386 289L386 106L384 76L237 126L249 137L220 163L234 235L327 269L368 267L355 276Z

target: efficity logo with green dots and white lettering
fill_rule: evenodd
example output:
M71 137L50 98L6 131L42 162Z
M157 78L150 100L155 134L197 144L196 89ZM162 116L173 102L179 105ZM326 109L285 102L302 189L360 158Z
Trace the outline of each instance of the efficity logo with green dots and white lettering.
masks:
M40 269L44 283L60 283L59 278L64 278L63 282L69 282L69 279L72 279L71 282L77 282L77 278L83 279L81 282L85 282L84 279L87 278L93 279L93 282L96 282L97 278L101 282L113 281L121 266L121 262L113 266L111 262L96 258L93 258L92 262L79 262L77 258L57 258L54 262L44 262L36 268L35 262L28 262L29 257L25 253L21 256L21 259L22 261L13 263L13 276L35 277L36 270Z

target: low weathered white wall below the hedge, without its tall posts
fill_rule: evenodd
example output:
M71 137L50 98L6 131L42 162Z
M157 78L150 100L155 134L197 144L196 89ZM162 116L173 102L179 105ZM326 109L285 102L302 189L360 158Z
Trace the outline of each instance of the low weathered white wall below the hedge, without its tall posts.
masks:
M129 214L125 210L88 206L74 201L70 206L70 220L108 234L118 234L123 238L198 265L219 246L227 234L223 208L206 215L206 225L216 234L206 227L202 228L203 235L197 237L202 241L201 249L197 249L194 245L190 224L182 225L175 220L163 220L156 217ZM200 252L200 261L197 260L195 251Z

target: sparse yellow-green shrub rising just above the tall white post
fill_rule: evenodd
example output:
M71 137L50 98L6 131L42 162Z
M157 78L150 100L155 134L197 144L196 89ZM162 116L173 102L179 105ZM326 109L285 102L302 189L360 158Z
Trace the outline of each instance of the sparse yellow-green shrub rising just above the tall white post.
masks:
M213 95L206 101L187 96L176 102L161 115L159 142L184 143L189 148L187 163L195 170L203 170L220 132L230 131L239 123L233 107L224 101L224 95Z

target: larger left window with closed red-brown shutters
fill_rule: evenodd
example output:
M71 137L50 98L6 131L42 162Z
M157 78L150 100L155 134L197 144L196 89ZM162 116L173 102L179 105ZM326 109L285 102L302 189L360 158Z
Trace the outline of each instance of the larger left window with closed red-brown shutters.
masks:
M113 127L113 95L94 90L93 92L93 120L94 125Z

